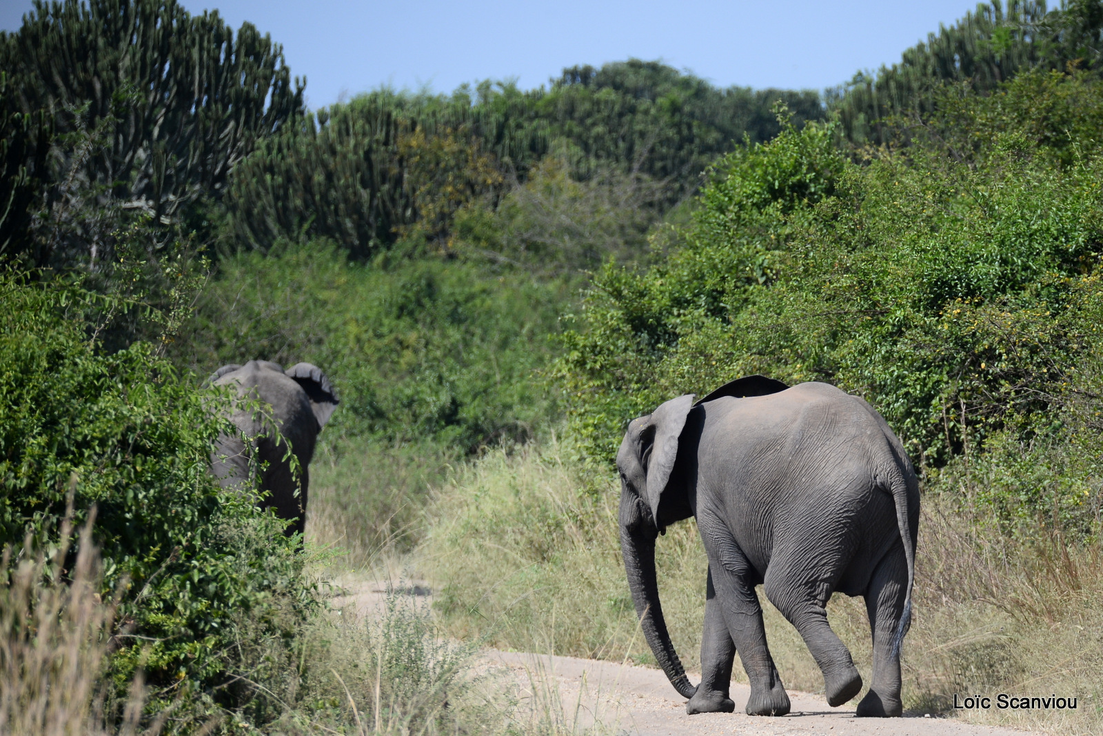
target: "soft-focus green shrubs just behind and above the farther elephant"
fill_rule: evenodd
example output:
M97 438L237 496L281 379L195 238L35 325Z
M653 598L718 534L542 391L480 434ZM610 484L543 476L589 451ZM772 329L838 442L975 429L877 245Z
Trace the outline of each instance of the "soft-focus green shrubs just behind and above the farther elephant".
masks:
M173 350L200 375L255 358L310 361L341 392L326 435L470 452L555 416L534 372L561 289L445 258L355 264L325 242L286 245L223 259Z

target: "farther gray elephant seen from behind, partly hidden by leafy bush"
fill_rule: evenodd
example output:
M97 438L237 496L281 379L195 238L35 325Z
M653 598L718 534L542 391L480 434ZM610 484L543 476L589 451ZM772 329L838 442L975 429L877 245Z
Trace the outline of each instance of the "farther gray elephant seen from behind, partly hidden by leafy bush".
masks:
M229 417L251 440L250 447L239 435L218 438L211 460L218 482L223 488L248 488L250 457L255 457L264 463L258 483L267 491L264 506L276 506L281 519L295 520L288 534L301 534L307 525L308 466L318 433L338 406L329 378L310 363L285 371L278 363L249 361L222 366L210 382L233 387L238 399L257 399L251 407L235 407ZM288 458L288 442L299 461L298 473Z

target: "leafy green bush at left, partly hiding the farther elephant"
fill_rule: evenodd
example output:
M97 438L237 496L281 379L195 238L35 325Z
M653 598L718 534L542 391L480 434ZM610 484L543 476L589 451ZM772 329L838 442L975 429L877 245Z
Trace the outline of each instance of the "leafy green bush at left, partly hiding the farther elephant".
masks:
M0 294L0 543L53 548L67 505L78 522L96 508L104 593L122 590L120 685L141 666L170 700L217 692L242 612L306 610L312 594L281 523L212 479L215 397L147 343L97 353L87 292L4 274Z

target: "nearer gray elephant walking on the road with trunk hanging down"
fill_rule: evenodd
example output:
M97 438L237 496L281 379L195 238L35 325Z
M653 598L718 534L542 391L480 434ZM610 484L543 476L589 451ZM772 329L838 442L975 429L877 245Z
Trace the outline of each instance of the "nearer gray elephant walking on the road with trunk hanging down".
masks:
M754 586L796 627L824 675L828 705L861 690L827 623L832 593L864 596L872 683L859 716L898 716L900 644L911 620L919 481L900 440L861 398L823 383L750 376L694 403L671 399L634 419L617 455L621 550L651 651L689 714L735 710L736 652L747 713L789 713ZM655 584L655 540L697 519L708 557L702 683L689 684Z

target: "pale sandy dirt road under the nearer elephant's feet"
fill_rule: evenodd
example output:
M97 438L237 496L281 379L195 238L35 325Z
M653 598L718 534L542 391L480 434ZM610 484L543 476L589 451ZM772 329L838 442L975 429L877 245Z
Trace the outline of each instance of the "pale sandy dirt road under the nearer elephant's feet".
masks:
M351 608L357 616L377 616L385 605L386 583L346 585L345 589L349 595L331 601L339 610ZM431 591L424 582L404 582L393 589L425 605L431 601ZM854 704L832 708L821 696L796 691L789 691L793 708L789 715L748 716L742 710L750 687L735 683L731 686L735 713L688 716L685 700L671 686L662 671L574 657L488 650L482 655L479 670L504 679L522 712L552 718L565 733L590 729L617 736L1021 736L1026 733L952 718L855 718ZM696 682L699 675L689 673L689 679Z

